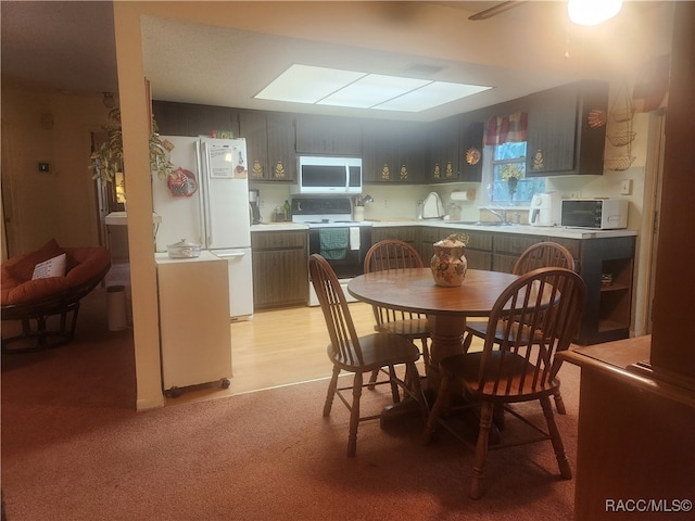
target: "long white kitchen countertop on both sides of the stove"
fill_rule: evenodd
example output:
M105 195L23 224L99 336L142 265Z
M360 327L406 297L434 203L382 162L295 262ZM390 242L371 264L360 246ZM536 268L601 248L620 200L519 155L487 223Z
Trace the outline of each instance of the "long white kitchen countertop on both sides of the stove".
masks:
M452 230L468 231L486 231L496 233L519 233L525 236L547 236L561 237L565 239L601 239L614 237L632 237L637 232L634 230L590 230L583 228L565 228L561 226L530 226L530 225L510 225L510 226L490 226L471 225L439 219L404 219L404 220L372 220L372 228L391 228L395 226L435 226L438 228L451 228ZM306 230L306 225L294 223L270 223L263 225L253 225L251 231L293 231Z

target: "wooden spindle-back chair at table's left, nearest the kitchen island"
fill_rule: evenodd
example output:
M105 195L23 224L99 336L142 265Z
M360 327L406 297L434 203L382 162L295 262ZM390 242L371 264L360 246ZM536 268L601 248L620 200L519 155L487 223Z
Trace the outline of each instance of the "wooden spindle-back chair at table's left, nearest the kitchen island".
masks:
M388 380L377 382L390 384L393 402L400 401L399 387L404 394L415 398L420 404L424 414L427 406L420 386L420 377L415 363L420 357L418 348L407 339L397 334L377 332L357 336L355 326L350 315L350 307L345 295L338 282L338 278L328 262L318 254L309 256L308 271L312 284L324 312L324 318L328 328L330 344L328 345L328 358L333 364L333 373L328 385L328 394L324 404L324 416L330 415L336 395L350 410L350 433L348 436L348 456L354 457L357 449L357 427L361 421L380 418L380 415L361 416L359 398L364 386L363 374L383 368L393 368L405 365L405 377L399 379L395 371L383 370L389 376ZM338 377L341 371L354 373L353 383L350 386L338 386ZM346 398L344 391L352 394L352 403Z

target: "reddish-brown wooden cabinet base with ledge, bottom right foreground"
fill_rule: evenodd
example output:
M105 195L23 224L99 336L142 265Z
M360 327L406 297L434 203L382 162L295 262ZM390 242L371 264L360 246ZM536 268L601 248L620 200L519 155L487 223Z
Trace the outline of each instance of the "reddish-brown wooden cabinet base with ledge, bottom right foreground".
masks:
M692 389L640 371L652 336L568 351L581 367L576 520L692 519Z

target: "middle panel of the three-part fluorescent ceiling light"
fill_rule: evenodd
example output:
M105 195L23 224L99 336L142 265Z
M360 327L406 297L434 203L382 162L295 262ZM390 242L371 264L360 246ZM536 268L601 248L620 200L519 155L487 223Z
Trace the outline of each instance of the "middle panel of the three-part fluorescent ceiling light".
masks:
M429 79L368 74L318 101L317 104L369 109L430 82Z

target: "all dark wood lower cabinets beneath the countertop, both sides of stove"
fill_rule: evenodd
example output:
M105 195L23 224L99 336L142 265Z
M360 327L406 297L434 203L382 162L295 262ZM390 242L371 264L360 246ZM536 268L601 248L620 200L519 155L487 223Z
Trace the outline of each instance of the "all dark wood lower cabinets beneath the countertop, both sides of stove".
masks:
M430 265L432 244L452 233L468 236L465 255L469 269L511 272L517 258L532 244L543 241L563 244L572 253L576 269L587 290L577 343L589 345L630 336L634 236L568 239L442 226L376 226L371 230L372 243L399 239L413 245L425 266ZM308 296L306 231L253 232L251 244L254 308L305 305ZM610 283L604 276L610 276Z

